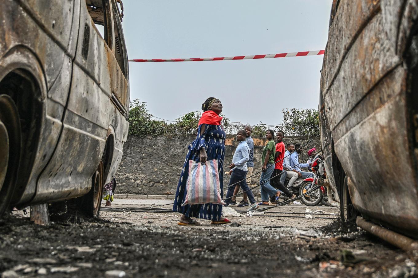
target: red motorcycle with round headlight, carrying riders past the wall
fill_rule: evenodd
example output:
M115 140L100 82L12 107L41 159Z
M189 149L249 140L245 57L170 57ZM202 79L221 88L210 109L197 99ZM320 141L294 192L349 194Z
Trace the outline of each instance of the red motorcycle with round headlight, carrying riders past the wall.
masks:
M318 184L318 179L326 179L324 158L317 155L311 164L311 170L315 176L313 178L307 178L303 180L303 183L299 187L299 195L303 195ZM307 206L316 206L322 202L323 205L328 205L328 195L324 186L319 187L313 192L301 197L301 202Z

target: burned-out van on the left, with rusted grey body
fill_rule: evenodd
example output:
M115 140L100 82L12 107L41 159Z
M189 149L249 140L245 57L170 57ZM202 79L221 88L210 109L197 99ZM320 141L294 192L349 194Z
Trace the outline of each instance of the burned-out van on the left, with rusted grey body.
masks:
M0 2L0 214L79 197L98 216L127 139L121 4Z

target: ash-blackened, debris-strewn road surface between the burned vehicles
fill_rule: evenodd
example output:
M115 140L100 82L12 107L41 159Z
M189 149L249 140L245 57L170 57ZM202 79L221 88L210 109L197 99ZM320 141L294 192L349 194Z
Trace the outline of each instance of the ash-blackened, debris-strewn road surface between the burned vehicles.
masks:
M170 201L118 199L112 208ZM307 208L329 215L305 218ZM418 277L418 254L404 253L362 230L338 231L334 220L321 218L335 218L335 208L292 204L271 211L265 214L270 216L231 217L228 225L200 221L195 227L176 225L178 214L105 208L99 220L58 215L44 227L15 211L0 220L0 273L2 277Z

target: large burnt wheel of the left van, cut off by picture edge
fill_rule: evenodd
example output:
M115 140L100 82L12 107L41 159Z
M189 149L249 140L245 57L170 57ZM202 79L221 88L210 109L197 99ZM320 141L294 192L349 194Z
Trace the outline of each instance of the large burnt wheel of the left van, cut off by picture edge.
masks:
M20 119L15 102L0 95L0 217L10 205L20 162Z

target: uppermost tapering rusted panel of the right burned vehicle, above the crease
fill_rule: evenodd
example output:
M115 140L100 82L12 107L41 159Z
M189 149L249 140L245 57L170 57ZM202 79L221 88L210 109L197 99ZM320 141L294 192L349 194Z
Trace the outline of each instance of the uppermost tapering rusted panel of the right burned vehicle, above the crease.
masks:
M358 33L365 24L380 9L379 0L340 0L338 10L331 26L329 27L328 41L323 62L321 76L321 92L326 94L334 76L339 71L339 66L344 56Z

